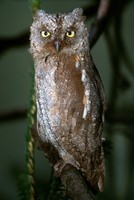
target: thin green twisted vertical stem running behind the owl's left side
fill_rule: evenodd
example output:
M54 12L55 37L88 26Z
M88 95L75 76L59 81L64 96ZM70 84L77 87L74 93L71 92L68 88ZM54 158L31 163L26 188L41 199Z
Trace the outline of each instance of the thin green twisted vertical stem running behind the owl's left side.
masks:
M30 5L33 14L40 7L40 0L30 0ZM34 70L33 70L34 71ZM32 128L35 124L36 115L36 102L35 102L35 90L34 90L34 76L31 95L31 104L28 112L28 131L26 135L26 200L35 200L35 180L34 180L34 138L32 136Z

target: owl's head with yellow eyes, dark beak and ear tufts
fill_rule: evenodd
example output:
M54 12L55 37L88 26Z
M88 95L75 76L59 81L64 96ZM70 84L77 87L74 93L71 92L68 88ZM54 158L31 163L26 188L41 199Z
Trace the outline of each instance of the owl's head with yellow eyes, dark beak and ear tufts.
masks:
M88 30L81 8L68 14L37 11L31 26L32 54L74 53L88 50Z

